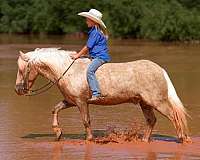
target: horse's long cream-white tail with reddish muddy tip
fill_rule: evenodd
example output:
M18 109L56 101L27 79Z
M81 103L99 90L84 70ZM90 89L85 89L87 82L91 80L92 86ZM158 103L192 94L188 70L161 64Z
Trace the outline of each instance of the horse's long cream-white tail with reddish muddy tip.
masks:
M164 72L164 77L167 81L167 86L168 86L168 99L170 102L170 105L173 110L173 119L176 123L176 128L179 130L179 133L181 132L182 135L187 136L188 135L188 126L187 126L187 120L186 120L186 115L189 116L179 99L179 97L176 94L176 90L167 74L167 72L163 69Z

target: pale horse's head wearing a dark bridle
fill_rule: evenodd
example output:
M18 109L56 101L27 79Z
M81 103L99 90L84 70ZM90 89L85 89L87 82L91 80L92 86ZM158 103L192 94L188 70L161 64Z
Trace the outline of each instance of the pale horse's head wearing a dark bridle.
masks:
M32 87L35 79L37 78L38 72L34 67L31 66L32 62L29 55L24 54L21 51L17 64L18 72L15 84L15 91L18 95L24 95Z

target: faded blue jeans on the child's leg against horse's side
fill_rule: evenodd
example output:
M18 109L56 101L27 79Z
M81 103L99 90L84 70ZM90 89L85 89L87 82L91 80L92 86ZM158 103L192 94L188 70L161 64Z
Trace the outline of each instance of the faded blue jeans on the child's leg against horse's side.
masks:
M96 79L96 70L105 63L104 60L94 58L87 69L87 81L93 96L100 96L99 83Z

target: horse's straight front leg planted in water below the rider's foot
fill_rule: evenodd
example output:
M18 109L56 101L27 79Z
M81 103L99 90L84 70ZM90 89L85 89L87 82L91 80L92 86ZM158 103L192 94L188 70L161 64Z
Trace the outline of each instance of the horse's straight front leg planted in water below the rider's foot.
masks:
M92 141L93 134L92 134L91 124L90 124L89 105L86 102L80 102L80 103L77 103L77 106L81 113L81 118L83 120L83 125L85 127L86 136L87 136L86 139L88 141Z

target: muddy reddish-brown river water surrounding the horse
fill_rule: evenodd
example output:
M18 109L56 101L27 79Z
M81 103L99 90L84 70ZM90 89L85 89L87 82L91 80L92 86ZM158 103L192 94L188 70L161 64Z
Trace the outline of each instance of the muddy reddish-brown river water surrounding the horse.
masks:
M168 71L178 95L192 117L188 123L190 135L196 142L188 146L190 149L175 143L172 124L160 114L156 114L156 142L152 144L119 144L114 147L85 144L84 128L77 108L60 113L64 139L62 142L54 142L51 109L62 100L62 96L55 87L31 98L15 94L13 87L18 51L40 47L79 50L84 40L71 40L64 36L0 35L0 159L200 159L200 45L133 40L111 40L109 43L113 62L149 59ZM39 78L35 86L44 83L45 80ZM90 114L96 136L102 136L109 126L124 129L130 127L136 119L144 123L140 108L132 104L110 107L91 105ZM163 143L164 147L161 149Z

